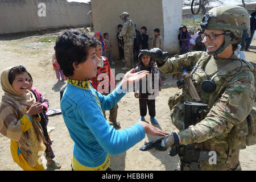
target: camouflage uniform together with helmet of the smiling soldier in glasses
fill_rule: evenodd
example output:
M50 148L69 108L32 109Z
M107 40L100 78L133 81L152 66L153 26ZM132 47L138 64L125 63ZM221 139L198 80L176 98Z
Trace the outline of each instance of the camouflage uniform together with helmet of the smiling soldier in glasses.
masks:
M230 34L225 34L225 42L217 51L197 51L176 55L163 65L158 64L158 68L170 75L182 72L184 68L190 69L195 65L198 67L192 74L192 81L201 103L208 105L208 109L200 114L198 123L183 130L184 102L194 102L186 87L183 87L182 93L176 93L168 102L172 123L180 130L178 133L180 144L195 143L195 148L215 151L219 155L217 163L212 165L208 161L198 160L197 170L241 170L239 153L246 147L248 134L246 117L253 109L255 99L254 67L247 61L239 61L234 53L229 59L220 59L216 56L227 46L241 42L245 39L244 36L249 34L248 13L239 6L221 6L208 13L208 18L212 18L206 18L205 28L228 30L235 38L230 40ZM215 77L215 91L205 93L201 84L208 80L208 76L199 68L207 73L209 79L216 74L232 76Z

